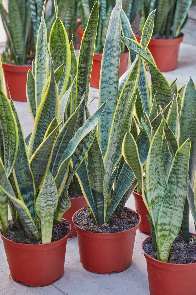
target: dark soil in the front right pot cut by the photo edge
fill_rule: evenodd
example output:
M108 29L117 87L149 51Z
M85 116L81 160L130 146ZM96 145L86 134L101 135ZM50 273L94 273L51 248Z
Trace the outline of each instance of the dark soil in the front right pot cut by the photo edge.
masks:
M190 242L194 241L193 244L183 241L180 235L175 238L169 254L168 263L173 264L184 264L196 262L196 236L190 233ZM144 242L144 251L150 257L157 259L156 252L152 251L152 238Z

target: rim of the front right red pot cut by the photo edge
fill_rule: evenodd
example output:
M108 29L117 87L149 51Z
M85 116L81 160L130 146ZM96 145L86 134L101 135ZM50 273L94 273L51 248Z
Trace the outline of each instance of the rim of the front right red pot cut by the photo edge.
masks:
M195 235L194 233L192 233L192 234ZM149 263L151 263L159 268L164 268L164 269L169 269L169 270L177 270L177 271L196 268L196 262L195 263L174 264L174 263L163 262L163 261L160 261L160 260L150 257L148 254L145 253L144 248L143 248L144 242L146 240L150 239L150 237L151 237L151 235L149 237L145 238L145 240L143 240L143 242L142 242L142 251L144 253L146 260L148 260Z

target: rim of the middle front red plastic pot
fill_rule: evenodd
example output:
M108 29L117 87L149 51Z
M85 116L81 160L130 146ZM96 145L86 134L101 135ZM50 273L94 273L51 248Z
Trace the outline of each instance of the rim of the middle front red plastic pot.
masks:
M128 207L127 207L128 208ZM81 209L83 209L83 208L81 208ZM81 209L79 209L79 210L77 210L74 214L73 214L73 217L74 217L74 215L78 212L78 211L80 211ZM128 209L131 209L131 208L128 208ZM131 209L131 210L133 210L133 209ZM136 212L135 210L133 210L136 214L138 213L138 212ZM83 228L81 228L81 227L79 227L77 224L75 224L74 223L74 221L73 221L73 217L72 217L72 222L73 222L73 224L74 224L74 226L76 226L76 227L78 227L78 229L81 231L81 232L83 232L83 234L86 234L86 235L88 235L88 233L89 233L89 235L91 235L91 237L92 237L92 235L96 235L96 237L92 237L92 238L103 238L103 239L105 239L106 237L107 238L114 238L114 239L117 239L117 238L121 238L122 237L122 235L123 234L127 234L128 233L128 231L133 231L133 230L137 230L138 229L138 227L139 227L139 224L140 224L140 222L141 222L141 216L140 216L140 214L138 214L139 215L139 222L138 222L138 224L137 225L135 225L134 227L132 227L132 228L130 228L129 230L123 230L122 232L89 232L88 230L84 230ZM117 237L117 235L119 236L119 237Z

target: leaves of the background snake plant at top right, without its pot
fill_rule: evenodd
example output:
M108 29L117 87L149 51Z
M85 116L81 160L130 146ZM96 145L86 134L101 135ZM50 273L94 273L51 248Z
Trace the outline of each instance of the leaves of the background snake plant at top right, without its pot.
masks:
M153 35L179 37L180 30L187 24L187 12L191 4L192 0L144 0L140 10L140 31L143 30L148 14L157 9Z

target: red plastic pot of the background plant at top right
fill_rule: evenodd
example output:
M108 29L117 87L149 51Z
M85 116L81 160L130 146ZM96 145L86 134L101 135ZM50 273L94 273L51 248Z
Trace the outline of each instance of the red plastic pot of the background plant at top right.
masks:
M135 37L140 42L141 37L135 32ZM183 34L175 39L151 39L148 49L153 55L157 68L161 72L169 72L177 68L177 58Z

